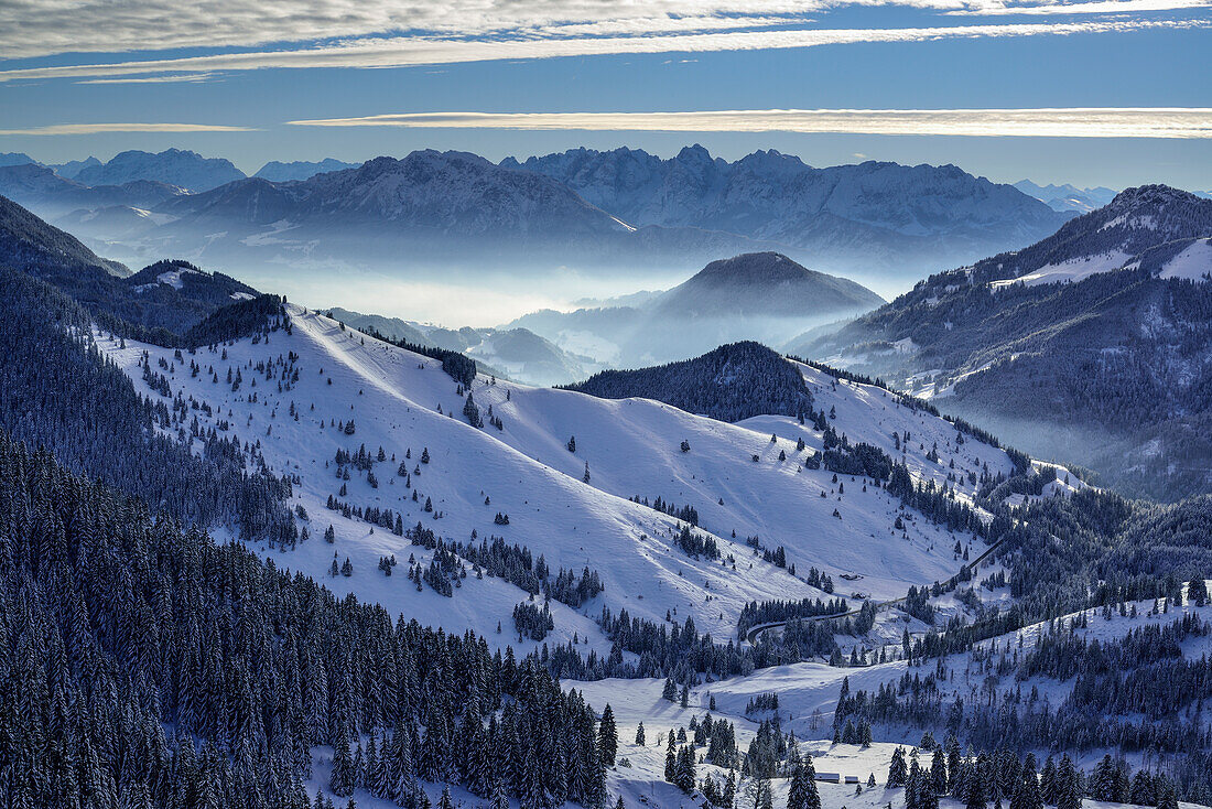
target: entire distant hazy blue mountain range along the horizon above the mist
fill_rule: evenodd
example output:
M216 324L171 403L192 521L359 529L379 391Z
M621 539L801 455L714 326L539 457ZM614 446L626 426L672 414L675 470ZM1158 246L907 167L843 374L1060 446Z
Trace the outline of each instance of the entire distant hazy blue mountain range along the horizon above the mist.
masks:
M269 163L255 177L190 152L126 152L63 173L38 165L45 176L32 186L22 176L35 165L0 172L0 194L52 220L70 216L63 224L132 262L167 252L231 267L361 263L401 273L405 252L410 263L470 275L490 263L635 274L777 251L899 289L939 263L1029 244L1071 216L955 166L814 169L777 152L727 163L702 147L670 159L577 149L499 165L425 150L354 167ZM121 192L128 183L143 190ZM90 224L107 207L127 210Z

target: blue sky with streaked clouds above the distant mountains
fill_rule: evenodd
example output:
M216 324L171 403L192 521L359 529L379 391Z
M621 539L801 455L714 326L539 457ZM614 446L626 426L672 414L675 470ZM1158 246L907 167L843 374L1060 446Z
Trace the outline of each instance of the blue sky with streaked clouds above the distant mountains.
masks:
M759 148L1212 190L1212 0L8 0L0 152Z

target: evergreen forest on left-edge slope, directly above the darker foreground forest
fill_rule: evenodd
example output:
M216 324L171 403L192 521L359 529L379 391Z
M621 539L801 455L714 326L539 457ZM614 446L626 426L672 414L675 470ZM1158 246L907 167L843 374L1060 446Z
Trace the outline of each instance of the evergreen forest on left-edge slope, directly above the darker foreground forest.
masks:
M293 542L290 480L247 469L256 448L235 451L213 432L195 456L182 431L199 403L176 400L170 410L139 395L92 343L91 329L88 313L63 294L0 269L0 427L183 524L238 523L245 537Z

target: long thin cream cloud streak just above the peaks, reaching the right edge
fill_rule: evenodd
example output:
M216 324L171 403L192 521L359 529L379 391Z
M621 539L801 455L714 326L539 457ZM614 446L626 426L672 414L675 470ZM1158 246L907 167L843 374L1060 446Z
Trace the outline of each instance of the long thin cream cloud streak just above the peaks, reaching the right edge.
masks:
M400 113L296 126L1212 138L1212 108L749 109L676 113Z

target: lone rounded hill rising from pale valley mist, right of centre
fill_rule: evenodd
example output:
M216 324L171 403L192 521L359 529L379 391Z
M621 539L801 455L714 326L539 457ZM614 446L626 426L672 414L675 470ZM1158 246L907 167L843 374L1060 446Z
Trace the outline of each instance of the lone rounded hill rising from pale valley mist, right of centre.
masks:
M782 253L755 252L713 261L678 286L631 306L534 312L510 325L604 364L636 368L742 340L782 343L882 302L854 281L807 269Z

